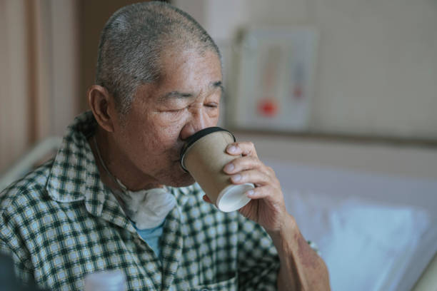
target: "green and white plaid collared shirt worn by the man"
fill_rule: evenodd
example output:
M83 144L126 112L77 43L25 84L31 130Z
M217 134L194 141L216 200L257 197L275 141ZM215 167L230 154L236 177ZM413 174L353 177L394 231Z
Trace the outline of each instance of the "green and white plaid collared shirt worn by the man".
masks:
M276 290L279 260L261 226L202 200L197 185L169 188L162 259L136 233L101 182L86 139L96 121L69 126L54 160L0 194L0 250L22 280L83 290L84 276L123 270L128 290Z

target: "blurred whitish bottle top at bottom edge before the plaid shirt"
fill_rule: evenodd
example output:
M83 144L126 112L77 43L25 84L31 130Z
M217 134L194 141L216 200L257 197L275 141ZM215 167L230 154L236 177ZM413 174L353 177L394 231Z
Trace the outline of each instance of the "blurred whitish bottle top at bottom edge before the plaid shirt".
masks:
M85 277L85 291L126 291L126 277L121 270L95 272Z

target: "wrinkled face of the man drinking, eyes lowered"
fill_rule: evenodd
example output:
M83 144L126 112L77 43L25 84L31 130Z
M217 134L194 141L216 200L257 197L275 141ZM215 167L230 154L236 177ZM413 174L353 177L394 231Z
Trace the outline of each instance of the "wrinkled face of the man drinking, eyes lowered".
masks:
M166 53L162 63L161 78L139 87L114 138L129 168L145 180L191 185L194 180L181 169L179 154L186 138L218 122L221 64L212 51Z

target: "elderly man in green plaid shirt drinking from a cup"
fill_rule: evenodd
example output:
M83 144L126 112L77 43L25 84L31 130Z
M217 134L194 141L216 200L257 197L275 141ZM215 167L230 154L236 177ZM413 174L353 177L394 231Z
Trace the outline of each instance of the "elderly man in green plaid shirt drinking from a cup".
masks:
M22 280L81 290L119 269L129 290L328 290L328 272L286 212L252 143L228 146L232 183L254 183L221 213L179 165L181 147L216 126L220 53L169 4L126 6L101 34L91 112L54 160L0 197L0 248Z

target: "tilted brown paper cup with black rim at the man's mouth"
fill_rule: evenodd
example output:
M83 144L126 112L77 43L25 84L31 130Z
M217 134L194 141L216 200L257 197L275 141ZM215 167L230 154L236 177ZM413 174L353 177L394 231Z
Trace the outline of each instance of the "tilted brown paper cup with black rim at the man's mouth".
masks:
M195 133L181 151L181 166L188 171L208 195L209 200L223 212L238 210L251 199L245 193L251 183L234 185L223 167L236 157L226 153L235 138L226 129L212 127Z

